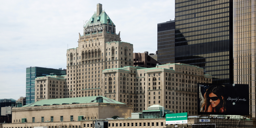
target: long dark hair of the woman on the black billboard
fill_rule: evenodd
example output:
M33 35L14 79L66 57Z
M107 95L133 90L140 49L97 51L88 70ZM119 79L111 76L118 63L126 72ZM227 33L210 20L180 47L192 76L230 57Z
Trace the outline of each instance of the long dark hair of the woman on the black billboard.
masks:
M213 93L215 94L219 99L220 99L220 106L221 108L223 109L223 112L226 112L226 100L224 98L224 86L222 85L214 85L214 86L211 86L207 92L206 92L206 96L207 97L206 99L208 100L207 101L207 105L210 105L210 98L209 98L209 94ZM223 99L222 99L223 97ZM209 102L209 104L208 104ZM208 106L207 106L208 108ZM217 111L217 110L216 110Z

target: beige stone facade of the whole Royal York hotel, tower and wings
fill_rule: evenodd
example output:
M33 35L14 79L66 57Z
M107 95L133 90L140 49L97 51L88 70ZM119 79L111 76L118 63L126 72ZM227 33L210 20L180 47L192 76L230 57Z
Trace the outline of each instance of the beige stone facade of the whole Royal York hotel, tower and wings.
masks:
M97 9L101 8L98 4ZM182 63L158 65L152 68L132 67L133 59L136 58L133 56L133 44L121 42L120 33L115 34L115 25L105 11L98 13L95 12L90 19L91 24L88 22L85 24L84 35L79 34L78 47L67 50L66 88L59 86L56 92L56 86L50 87L46 83L46 86L48 85L46 98L105 96L131 104L134 107L133 112L142 112L148 106L159 104L173 110L174 113L197 114L196 85L198 82L211 83L212 76L204 75L203 68ZM98 21L102 19L102 24L93 26L98 24L95 22L96 19ZM88 27L90 25L91 28ZM102 30L88 32L101 27ZM45 78L36 79L39 87L42 81L43 89L45 83L41 79ZM55 92L52 88L56 89ZM42 96L37 100L46 99L44 94Z

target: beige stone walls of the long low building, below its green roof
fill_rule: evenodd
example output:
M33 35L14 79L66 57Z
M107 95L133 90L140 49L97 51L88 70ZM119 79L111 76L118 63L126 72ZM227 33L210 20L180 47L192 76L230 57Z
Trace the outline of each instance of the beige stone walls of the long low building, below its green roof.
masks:
M128 118L131 117L132 108L127 104L99 102L19 107L12 110L12 123L21 123L22 118L26 118L27 123L78 121L78 116L81 115L85 120L106 119L113 116Z

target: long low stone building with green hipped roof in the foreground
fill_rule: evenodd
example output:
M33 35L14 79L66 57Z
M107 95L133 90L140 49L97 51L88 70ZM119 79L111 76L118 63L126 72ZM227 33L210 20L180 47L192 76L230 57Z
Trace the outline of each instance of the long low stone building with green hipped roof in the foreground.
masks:
M40 100L13 108L12 123L79 121L131 117L132 106L102 96Z

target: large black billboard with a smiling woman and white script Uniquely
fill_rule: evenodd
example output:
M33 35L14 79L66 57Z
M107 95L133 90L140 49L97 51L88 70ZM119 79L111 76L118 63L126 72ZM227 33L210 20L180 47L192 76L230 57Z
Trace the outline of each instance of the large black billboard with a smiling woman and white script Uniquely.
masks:
M199 115L249 115L249 85L198 83L197 106Z

